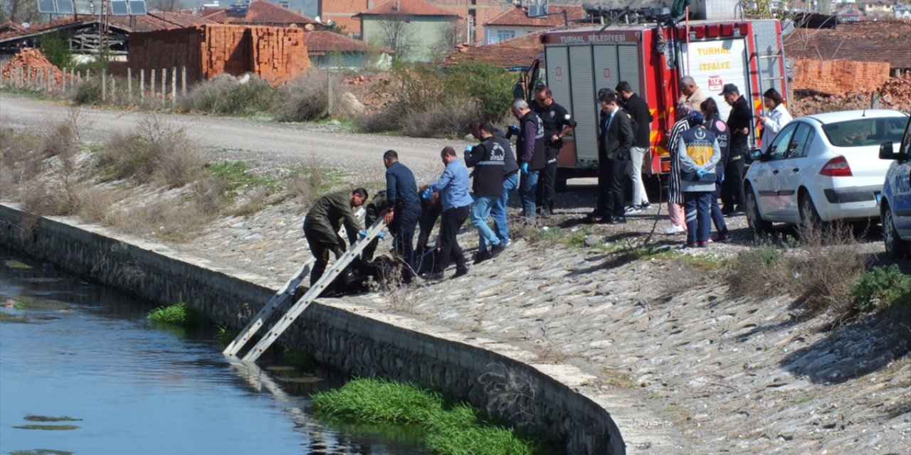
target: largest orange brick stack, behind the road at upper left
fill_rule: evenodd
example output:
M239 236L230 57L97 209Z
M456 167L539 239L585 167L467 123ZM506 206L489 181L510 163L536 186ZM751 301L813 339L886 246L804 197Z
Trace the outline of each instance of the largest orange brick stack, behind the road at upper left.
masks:
M129 67L187 67L189 82L222 73L251 72L273 83L305 73L310 66L304 31L251 25L196 25L130 36Z

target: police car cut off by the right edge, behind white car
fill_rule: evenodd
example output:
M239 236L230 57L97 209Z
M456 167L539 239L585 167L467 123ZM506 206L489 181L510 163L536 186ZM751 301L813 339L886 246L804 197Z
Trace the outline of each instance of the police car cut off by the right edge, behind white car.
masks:
M879 148L881 159L894 160L886 171L879 199L885 253L890 258L906 256L911 245L911 120L901 140L899 147L886 142Z

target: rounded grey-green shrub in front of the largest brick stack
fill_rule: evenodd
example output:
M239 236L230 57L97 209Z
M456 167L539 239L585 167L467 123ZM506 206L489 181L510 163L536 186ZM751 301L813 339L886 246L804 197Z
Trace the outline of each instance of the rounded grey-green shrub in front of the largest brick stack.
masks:
M251 116L270 112L275 87L256 76L241 83L230 75L220 75L194 86L180 100L184 110L197 110L218 116Z

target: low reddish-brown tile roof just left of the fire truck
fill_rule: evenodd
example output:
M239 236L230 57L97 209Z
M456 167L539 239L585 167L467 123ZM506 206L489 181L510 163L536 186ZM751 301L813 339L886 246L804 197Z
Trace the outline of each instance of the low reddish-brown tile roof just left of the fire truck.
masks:
M544 52L540 37L540 33L529 33L495 45L461 45L445 58L443 65L480 61L501 68L527 67Z

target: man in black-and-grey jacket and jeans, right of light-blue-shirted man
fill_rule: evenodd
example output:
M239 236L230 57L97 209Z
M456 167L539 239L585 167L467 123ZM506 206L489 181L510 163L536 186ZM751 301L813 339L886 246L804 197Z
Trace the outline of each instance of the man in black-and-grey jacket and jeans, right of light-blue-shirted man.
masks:
M483 123L477 132L481 143L475 147L466 147L465 164L474 167L472 191L475 193L475 204L472 208L471 222L477 227L478 240L475 263L500 254L505 248L501 245L496 232L487 226L487 217L496 201L503 196L503 179L506 177L507 155L512 155L512 147L501 136L494 136L494 126ZM491 250L487 250L487 244Z

